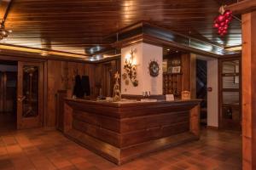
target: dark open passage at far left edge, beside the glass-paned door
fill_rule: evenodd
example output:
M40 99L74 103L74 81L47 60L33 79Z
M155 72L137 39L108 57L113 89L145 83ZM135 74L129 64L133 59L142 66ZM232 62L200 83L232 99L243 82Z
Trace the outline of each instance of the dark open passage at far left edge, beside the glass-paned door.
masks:
M18 62L0 60L0 129L17 126L17 75Z

